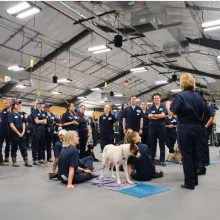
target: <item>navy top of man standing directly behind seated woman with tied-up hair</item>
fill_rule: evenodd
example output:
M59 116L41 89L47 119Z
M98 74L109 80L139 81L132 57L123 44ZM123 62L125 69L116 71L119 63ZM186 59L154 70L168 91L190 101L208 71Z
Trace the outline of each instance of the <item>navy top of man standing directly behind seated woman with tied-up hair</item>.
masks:
M133 131L140 130L140 119L143 118L143 111L139 106L128 106L123 111L123 118L126 120L126 129L132 129Z

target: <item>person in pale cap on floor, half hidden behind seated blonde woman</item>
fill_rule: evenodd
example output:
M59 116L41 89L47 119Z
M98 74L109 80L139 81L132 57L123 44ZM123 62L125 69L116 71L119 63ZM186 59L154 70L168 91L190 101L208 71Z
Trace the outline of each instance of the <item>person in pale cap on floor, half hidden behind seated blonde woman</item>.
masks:
M66 130L60 130L58 132L58 137L59 137L59 141L57 141L54 145L54 161L53 161L53 169L51 172L49 172L49 179L52 178L56 178L57 174L56 174L56 169L57 169L57 165L58 165L58 160L59 160L59 156L60 156L60 152L63 149L63 138L66 134Z

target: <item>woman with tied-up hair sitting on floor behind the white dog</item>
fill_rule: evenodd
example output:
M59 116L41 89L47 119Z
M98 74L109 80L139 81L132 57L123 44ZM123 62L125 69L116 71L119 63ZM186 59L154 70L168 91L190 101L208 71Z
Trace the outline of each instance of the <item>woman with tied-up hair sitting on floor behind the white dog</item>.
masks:
M127 143L134 143L139 147L141 156L128 159L128 174L137 181L148 181L152 178L163 177L163 172L152 163L150 150L147 145L141 143L141 137L135 131L126 136ZM133 169L132 169L133 165Z

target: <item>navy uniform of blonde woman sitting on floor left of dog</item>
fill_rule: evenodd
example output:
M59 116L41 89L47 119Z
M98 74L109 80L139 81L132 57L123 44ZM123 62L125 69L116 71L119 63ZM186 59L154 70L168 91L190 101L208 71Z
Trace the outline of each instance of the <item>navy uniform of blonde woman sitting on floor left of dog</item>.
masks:
M70 167L74 168L74 177L72 184L82 183L92 179L91 174L78 171L79 151L73 146L63 148L59 156L58 178L64 184L68 183Z

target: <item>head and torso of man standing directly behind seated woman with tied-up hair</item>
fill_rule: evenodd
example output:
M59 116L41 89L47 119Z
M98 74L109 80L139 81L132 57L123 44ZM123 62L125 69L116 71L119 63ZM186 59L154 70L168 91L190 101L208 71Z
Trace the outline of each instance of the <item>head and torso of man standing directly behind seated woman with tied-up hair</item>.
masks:
M123 112L123 131L126 133L127 129L132 129L142 135L143 131L143 111L137 106L136 96L130 97L131 105L128 106Z

